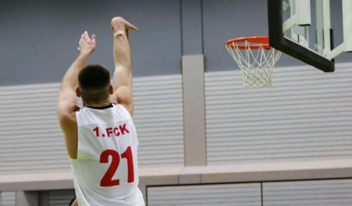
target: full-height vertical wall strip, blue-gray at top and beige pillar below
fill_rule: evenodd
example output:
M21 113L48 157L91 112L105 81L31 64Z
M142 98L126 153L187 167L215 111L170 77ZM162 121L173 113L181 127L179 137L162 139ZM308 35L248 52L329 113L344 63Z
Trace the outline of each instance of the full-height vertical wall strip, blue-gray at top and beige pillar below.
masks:
M186 166L206 165L202 15L202 0L181 0Z

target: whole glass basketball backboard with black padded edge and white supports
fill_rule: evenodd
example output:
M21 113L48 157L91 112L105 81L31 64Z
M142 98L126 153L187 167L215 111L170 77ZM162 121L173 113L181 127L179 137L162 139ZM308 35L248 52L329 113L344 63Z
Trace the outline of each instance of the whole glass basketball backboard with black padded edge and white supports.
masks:
M325 72L352 51L352 1L342 1L343 43L334 48L329 0L268 0L270 46Z

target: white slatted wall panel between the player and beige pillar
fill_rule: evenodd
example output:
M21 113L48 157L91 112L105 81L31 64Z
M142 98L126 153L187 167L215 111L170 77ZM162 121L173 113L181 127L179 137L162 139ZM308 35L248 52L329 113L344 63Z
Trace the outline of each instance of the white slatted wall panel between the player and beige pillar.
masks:
M141 167L184 165L182 76L134 78Z

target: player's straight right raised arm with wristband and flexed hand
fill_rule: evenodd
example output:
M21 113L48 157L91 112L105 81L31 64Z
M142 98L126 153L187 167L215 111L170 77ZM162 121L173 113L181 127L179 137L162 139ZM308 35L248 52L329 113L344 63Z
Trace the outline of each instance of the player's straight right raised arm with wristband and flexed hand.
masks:
M111 27L114 35L115 71L112 79L114 94L110 101L122 104L133 115L132 67L128 29L136 31L138 29L122 17L114 17L111 20Z

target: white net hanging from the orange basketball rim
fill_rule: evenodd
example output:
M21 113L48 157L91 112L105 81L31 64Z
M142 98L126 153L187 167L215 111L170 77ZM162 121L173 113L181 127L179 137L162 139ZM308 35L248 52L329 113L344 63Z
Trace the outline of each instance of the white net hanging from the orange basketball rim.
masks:
M279 60L281 52L271 49L264 49L260 44L259 49L249 47L249 42L245 41L247 49L239 49L237 43L227 45L226 48L240 67L243 74L243 86L247 87L272 87L271 75L275 63Z

